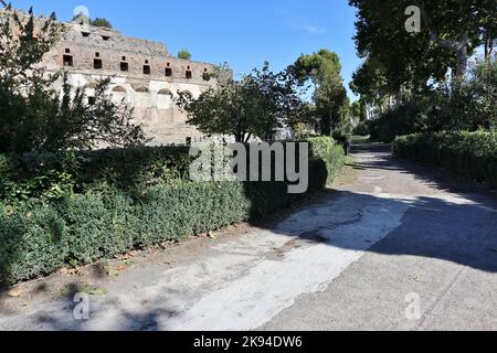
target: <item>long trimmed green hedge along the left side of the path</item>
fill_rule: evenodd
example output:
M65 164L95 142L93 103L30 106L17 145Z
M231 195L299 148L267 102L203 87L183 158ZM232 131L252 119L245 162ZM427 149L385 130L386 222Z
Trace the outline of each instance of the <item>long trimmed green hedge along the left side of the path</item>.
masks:
M309 142L313 192L336 176L345 156L331 139ZM190 181L187 152L1 157L9 197L0 202L0 284L261 220L302 197L288 194L286 182Z

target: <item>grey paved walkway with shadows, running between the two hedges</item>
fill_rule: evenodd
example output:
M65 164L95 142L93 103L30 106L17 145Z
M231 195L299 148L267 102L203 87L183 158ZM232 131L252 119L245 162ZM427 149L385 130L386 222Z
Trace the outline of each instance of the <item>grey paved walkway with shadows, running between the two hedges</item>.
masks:
M103 279L89 320L30 292L0 297L0 330L497 330L496 195L355 157L353 181L275 226Z

